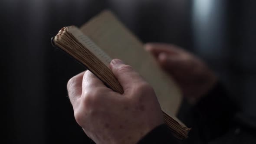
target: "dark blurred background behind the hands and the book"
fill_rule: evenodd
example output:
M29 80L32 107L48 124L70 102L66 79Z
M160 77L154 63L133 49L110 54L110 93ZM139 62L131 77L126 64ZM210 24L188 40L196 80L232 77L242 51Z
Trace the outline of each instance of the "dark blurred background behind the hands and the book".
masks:
M50 38L104 9L144 43L202 58L241 111L256 115L255 0L1 0L1 103L8 144L91 143L76 124L67 81L84 68Z

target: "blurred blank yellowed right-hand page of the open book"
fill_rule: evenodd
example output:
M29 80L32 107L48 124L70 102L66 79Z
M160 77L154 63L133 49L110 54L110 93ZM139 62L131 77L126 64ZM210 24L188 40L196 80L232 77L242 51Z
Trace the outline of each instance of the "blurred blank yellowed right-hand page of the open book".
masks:
M154 57L144 50L143 43L131 34L111 12L104 11L80 29L108 56L123 60L125 64L131 65L139 72L154 88L162 110L175 118L173 115L177 114L182 98L179 87L158 66Z

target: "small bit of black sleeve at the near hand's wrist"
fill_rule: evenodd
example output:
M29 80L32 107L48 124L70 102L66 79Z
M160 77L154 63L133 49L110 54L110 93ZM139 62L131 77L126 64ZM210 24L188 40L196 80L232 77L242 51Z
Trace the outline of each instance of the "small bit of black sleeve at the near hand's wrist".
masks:
M138 144L179 144L179 141L165 124L161 124L142 137Z

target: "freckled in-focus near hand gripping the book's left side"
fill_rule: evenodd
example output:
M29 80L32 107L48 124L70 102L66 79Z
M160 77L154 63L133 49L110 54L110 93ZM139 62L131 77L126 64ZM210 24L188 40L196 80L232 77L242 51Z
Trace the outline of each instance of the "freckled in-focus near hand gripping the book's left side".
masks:
M91 72L69 80L67 88L75 120L97 144L135 144L163 124L163 113L153 88L131 66L119 59L110 68L124 89L107 88Z

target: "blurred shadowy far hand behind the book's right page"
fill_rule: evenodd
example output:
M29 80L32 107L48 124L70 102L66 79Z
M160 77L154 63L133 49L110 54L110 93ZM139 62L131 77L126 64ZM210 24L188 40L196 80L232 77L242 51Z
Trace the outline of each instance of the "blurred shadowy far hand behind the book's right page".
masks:
M200 98L217 82L207 65L184 49L163 43L150 43L145 49L174 78L187 98Z

